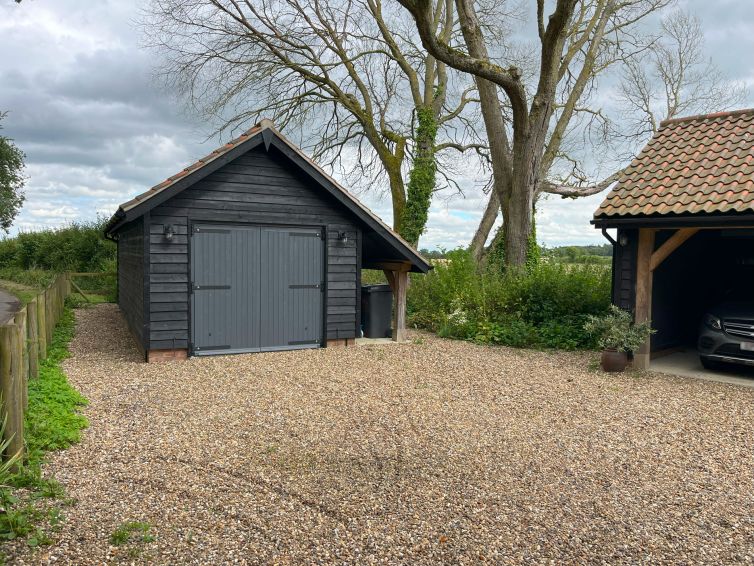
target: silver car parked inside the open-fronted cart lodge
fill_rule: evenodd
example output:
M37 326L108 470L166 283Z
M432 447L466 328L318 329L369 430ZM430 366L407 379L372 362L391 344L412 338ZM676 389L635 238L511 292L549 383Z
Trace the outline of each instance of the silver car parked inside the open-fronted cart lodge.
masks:
M705 314L698 349L707 369L723 363L754 366L754 302L728 301Z

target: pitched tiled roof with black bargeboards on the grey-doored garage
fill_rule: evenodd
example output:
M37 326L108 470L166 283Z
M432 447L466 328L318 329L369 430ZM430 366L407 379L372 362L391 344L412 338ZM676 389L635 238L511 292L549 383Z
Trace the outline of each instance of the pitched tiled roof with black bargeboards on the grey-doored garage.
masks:
M426 273L432 269L431 264L414 247L404 240L397 232L385 224L379 216L369 210L355 196L328 175L317 163L306 155L299 147L281 134L270 120L261 120L254 127L245 131L237 138L217 148L212 153L202 157L195 163L185 167L175 175L168 177L151 189L124 202L115 211L105 226L105 234L113 235L126 222L130 222L151 210L167 198L173 196L200 179L206 177L222 165L225 165L238 155L245 153L258 143L264 143L268 148L275 145L278 149L295 159L310 176L314 177L327 191L356 214L382 240L387 241L401 253L419 271Z

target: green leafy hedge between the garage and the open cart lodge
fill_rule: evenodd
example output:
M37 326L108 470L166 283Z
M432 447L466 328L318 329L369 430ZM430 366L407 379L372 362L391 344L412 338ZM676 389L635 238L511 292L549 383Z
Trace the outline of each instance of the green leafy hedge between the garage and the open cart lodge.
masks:
M480 270L465 250L448 252L427 275L413 276L409 321L441 336L515 347L594 347L584 332L610 305L604 266L542 261L526 270Z

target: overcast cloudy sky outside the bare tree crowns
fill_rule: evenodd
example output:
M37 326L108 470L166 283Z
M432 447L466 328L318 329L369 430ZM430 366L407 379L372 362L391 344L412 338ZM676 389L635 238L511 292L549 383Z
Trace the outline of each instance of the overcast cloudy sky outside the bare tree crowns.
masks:
M221 141L207 139L209 128L152 79L155 54L139 47L135 23L140 4L0 0L0 110L9 111L3 134L26 153L29 177L14 231L109 216ZM754 106L754 1L680 5L701 19L712 60L749 85L743 106ZM473 184L464 189L464 196L432 206L422 247L468 244L484 200ZM361 198L391 221L387 199ZM540 242L602 243L589 225L601 198L542 203Z

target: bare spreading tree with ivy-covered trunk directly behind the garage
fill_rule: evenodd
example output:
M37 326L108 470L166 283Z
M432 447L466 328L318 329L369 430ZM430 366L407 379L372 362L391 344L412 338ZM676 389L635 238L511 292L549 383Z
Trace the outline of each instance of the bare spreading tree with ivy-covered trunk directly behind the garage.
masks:
M432 33L451 41L452 0L428 2ZM331 167L386 177L394 226L411 243L437 176L453 184L442 156L482 149L465 133L473 83L383 0L153 0L147 30L167 55L164 76L220 129L267 116L311 132Z

